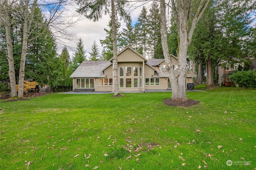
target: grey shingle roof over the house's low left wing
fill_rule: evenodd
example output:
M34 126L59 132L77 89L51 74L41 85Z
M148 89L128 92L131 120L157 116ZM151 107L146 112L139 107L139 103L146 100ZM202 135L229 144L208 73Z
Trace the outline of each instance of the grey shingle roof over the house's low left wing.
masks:
M71 74L72 78L105 77L102 69L112 64L110 61L83 61Z

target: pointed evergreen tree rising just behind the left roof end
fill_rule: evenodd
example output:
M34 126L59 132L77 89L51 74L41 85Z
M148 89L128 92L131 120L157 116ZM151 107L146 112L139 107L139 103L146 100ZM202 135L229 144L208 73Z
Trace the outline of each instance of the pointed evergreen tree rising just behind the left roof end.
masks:
M80 37L78 39L78 43L76 44L76 52L75 52L75 57L72 60L72 66L71 70L74 72L76 68L83 62L86 61L86 50L84 50L84 45L82 38Z

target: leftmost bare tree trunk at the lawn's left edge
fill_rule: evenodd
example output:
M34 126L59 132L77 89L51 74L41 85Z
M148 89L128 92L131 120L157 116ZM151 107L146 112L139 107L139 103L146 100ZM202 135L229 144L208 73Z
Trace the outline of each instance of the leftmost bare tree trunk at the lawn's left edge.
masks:
M7 46L7 53L8 53L8 66L9 71L8 75L10 78L10 96L11 98L14 98L17 96L16 91L16 79L15 79L15 69L14 69L14 58L13 58L13 51L12 51L12 37L11 37L11 30L10 30L10 21L7 14L4 14L5 22L4 22L4 28L6 30L6 46Z

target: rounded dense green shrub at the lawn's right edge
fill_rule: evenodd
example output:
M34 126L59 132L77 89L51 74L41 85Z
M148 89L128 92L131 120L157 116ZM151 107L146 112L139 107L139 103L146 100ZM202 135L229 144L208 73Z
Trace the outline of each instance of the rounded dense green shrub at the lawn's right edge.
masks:
M244 88L256 88L256 72L254 70L237 71L230 75L231 80Z

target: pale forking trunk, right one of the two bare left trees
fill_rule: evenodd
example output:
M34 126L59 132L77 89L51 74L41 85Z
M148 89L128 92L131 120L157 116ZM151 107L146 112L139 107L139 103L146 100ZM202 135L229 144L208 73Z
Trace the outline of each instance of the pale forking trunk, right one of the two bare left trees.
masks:
M29 0L25 0L25 10L24 10L24 27L23 27L23 41L22 41L22 50L21 50L21 59L20 59L20 72L19 72L19 88L18 88L18 98L23 97L23 84L25 76L25 61L26 61L26 52L28 46L28 31L30 30L32 20L34 18L34 12L36 9L36 2L34 0L31 11L29 12Z

